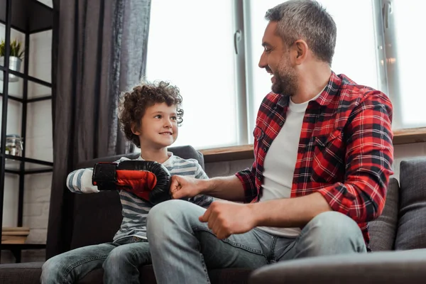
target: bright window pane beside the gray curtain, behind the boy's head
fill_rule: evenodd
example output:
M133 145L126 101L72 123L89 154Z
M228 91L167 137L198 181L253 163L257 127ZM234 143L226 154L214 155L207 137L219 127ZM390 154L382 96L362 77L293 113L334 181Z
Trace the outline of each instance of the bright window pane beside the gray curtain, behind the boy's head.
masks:
M183 123L174 144L236 145L231 1L151 2L146 77L180 88Z

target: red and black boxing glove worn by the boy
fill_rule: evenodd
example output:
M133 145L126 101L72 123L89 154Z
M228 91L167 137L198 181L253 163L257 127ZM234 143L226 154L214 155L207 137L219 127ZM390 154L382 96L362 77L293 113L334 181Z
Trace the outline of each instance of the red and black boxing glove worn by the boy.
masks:
M170 173L164 165L153 161L97 163L92 184L98 190L126 190L152 204L170 200Z

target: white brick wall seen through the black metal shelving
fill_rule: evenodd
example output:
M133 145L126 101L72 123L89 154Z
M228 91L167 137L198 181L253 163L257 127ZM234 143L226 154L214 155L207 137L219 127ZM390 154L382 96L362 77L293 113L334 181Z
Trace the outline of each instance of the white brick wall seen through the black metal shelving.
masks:
M52 0L40 0L52 7ZM4 39L5 27L0 24L0 39ZM12 30L11 39L23 42L22 33ZM41 80L51 80L52 32L35 33L30 36L29 75ZM21 66L23 72L23 64ZM9 94L21 97L23 82L10 82ZM0 92L3 82L0 81ZM28 82L28 97L43 97L51 94L51 89L40 84ZM7 133L21 133L21 103L9 100ZM0 101L1 115L1 101ZM39 160L53 161L52 107L51 101L28 104L25 145L26 156ZM9 162L8 162L9 163ZM37 167L37 165L26 165ZM26 175L23 199L23 226L30 227L27 243L45 244L48 227L51 173ZM3 226L17 226L18 218L18 176L6 175L4 187ZM23 251L22 261L43 261L44 250ZM9 251L1 252L1 263L13 262Z

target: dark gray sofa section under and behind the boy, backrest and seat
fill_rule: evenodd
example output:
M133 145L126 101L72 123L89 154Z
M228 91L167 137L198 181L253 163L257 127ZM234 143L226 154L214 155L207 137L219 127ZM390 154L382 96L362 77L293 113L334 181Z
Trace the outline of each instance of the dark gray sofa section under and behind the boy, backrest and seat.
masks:
M195 151L191 146L171 147L169 151L172 151L181 158L195 158L204 168L204 158L202 154ZM76 168L93 167L95 163L100 161L111 162L118 160L121 156L123 155L87 160L77 165ZM124 156L128 158L137 158L138 154L132 153ZM111 241L116 230L119 229L122 219L118 192L99 192L91 195L70 194L69 197L69 199L72 198L72 200L67 200L70 201L67 206L72 204L71 212L65 213L67 214L65 219L67 219L68 222L62 222L60 229L70 232L71 237L70 239L61 239L61 246L58 246L55 242L48 242L48 249L54 251L53 254L58 254L61 252L58 251L58 247L70 250L81 246ZM55 202L55 200L50 200L50 202ZM52 214L58 215L64 213L50 211L50 217L52 217ZM49 229L50 227L48 230ZM43 262L0 265L0 284L40 283L41 266L43 266ZM152 266L141 266L139 270L141 272L141 283L156 283ZM251 271L248 269L243 268L212 269L209 270L209 276L212 283L247 283L250 272ZM78 283L101 284L103 282L103 273L102 268L92 271Z

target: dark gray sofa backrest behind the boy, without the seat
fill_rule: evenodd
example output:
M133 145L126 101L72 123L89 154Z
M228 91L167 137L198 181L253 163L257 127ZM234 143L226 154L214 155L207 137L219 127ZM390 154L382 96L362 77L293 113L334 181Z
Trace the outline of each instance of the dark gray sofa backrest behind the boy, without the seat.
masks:
M194 158L204 168L202 153L196 151L192 146L170 147L168 150L180 158ZM77 168L92 168L95 163L114 162L123 156L135 159L138 158L138 155L139 153L130 153L87 160L77 165ZM123 219L118 192L106 191L75 195L73 218L70 249L112 241Z

